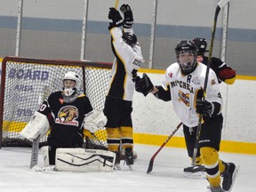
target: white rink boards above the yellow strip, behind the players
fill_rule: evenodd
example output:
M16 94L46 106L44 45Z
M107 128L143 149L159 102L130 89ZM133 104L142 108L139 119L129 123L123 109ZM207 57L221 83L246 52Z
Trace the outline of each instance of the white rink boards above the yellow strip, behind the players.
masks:
M142 74L140 74L142 76ZM148 74L152 83L160 85L162 74ZM232 85L220 84L224 101L222 140L255 142L256 138L256 81L237 80ZM180 123L172 109L172 101L156 100L148 94L145 98L135 92L133 100L134 132L169 135ZM176 136L182 136L180 129Z

